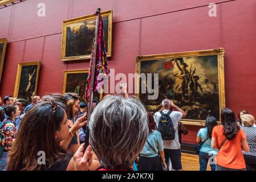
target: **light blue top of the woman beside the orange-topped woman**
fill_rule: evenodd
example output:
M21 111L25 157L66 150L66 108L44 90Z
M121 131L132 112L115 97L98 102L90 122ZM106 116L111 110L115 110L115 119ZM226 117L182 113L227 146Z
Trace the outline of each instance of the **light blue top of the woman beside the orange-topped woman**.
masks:
M202 141L204 141L207 138L207 127L205 127L204 129L200 129L198 131L197 137L201 137ZM209 154L218 154L218 150L217 149L213 149L212 148L212 139L208 138L204 144L202 144L202 147L200 148L200 152L205 152L205 153L209 153Z

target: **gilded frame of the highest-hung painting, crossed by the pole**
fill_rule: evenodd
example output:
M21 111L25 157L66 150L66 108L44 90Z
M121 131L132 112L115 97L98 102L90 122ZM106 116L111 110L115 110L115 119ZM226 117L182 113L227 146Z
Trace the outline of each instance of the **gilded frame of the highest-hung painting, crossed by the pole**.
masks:
M107 57L111 57L112 55L112 15L113 11L103 11L101 12L101 17L109 16L108 18L108 50ZM67 43L67 26L68 24L79 23L85 20L96 19L94 14L81 16L79 18L73 18L63 21L63 30L62 30L62 51L61 51L61 61L72 61L72 60L84 60L84 59L91 59L90 55L80 55L80 56L70 56L66 57L66 43Z

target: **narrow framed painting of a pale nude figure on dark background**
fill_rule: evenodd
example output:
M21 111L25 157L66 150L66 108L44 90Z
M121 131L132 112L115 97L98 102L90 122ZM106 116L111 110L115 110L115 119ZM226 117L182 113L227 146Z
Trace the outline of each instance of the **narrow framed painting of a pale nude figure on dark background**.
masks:
M24 98L31 103L31 98L36 96L39 71L40 61L18 64L14 97Z

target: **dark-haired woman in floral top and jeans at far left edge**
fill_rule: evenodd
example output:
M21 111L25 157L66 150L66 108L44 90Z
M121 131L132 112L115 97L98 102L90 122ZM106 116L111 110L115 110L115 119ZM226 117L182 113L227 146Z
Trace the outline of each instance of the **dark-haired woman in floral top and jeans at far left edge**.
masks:
M19 107L17 105L9 105L3 108L0 111L0 118L1 121L5 118L5 114L7 115L7 119L2 122L0 127L0 131L2 133L2 147L3 155L0 158L0 170L5 171L7 166L7 158L8 158L8 151L11 149L13 142L15 141L17 131L15 129L15 118L21 114Z

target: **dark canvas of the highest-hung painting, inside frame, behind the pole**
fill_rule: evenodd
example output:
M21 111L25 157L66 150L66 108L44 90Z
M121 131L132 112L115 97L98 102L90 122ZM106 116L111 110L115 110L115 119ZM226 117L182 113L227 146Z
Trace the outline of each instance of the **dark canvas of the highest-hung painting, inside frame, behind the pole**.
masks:
M105 49L108 50L108 18L102 17L104 24ZM66 57L91 55L95 37L96 18L67 26Z

